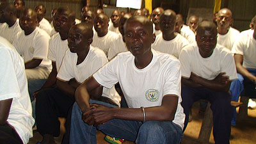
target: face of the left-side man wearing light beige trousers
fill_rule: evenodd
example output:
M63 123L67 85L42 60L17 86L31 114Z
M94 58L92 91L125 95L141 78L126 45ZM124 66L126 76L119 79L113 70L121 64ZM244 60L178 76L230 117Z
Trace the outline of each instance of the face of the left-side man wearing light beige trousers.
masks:
M35 29L37 23L38 20L36 18L36 15L33 15L32 10L30 9L24 11L19 20L20 28L23 29L25 32Z

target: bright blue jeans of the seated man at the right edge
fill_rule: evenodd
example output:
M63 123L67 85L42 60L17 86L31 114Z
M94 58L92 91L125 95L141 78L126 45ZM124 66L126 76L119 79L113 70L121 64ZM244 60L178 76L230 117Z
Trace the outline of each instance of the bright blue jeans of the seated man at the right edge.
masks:
M253 76L256 76L256 69L247 68L247 70L253 74ZM252 88L255 90L255 84L250 81L250 79L243 77L241 74L237 73L237 79L231 82L230 85L230 92L232 93L232 99L234 101L238 101L241 92L244 90L244 86L247 88ZM250 96L250 95L248 95ZM236 125L236 107L233 107L234 109L234 116L232 118L231 124Z

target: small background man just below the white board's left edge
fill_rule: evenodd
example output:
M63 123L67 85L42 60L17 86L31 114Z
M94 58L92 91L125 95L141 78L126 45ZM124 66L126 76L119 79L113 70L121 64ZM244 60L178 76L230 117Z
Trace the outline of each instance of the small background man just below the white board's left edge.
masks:
M119 10L114 10L112 12L112 15L110 17L112 24L108 28L109 31L113 31L116 34L120 33L118 30L118 24L119 24L120 17L121 17L121 13L119 12Z

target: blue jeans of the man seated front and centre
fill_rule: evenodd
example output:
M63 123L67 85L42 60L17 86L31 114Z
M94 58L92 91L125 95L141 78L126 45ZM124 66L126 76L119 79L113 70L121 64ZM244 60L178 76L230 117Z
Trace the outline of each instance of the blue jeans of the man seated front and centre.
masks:
M114 107L105 102L91 100L90 103L98 103L108 107ZM180 143L183 138L182 129L171 121L147 121L145 123L113 119L97 127L88 125L81 119L82 112L77 103L72 109L70 125L70 143L96 144L97 129L114 138L122 138L136 143Z

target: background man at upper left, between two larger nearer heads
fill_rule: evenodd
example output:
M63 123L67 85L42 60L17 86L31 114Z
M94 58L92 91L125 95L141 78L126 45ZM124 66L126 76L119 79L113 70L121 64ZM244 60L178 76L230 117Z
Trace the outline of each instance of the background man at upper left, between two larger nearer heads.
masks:
M36 6L35 12L37 13L38 27L44 29L49 35L51 35L52 26L50 22L44 18L46 13L45 6L42 4Z

